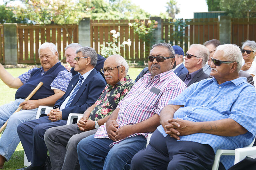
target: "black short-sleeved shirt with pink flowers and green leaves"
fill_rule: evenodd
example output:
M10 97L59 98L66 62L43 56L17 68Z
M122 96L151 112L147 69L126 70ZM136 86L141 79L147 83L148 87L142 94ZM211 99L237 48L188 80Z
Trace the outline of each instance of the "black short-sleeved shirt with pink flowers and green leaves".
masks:
M122 78L115 86L107 84L95 102L96 106L91 111L89 119L96 121L109 116L133 85L134 82L130 79L129 75Z

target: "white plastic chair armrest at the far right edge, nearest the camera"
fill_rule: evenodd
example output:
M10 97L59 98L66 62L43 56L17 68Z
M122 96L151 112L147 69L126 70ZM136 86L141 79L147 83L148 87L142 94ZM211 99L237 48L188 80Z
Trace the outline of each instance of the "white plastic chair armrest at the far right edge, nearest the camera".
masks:
M235 163L240 162L246 156L251 156L252 158L256 157L256 146L253 147L242 147L235 149Z

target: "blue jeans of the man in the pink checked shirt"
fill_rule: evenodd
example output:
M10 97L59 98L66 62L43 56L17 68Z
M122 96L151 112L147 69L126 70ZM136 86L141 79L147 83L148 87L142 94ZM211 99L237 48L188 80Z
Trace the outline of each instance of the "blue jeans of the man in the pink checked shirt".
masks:
M147 140L139 135L127 138L115 144L108 138L94 138L94 135L82 139L77 145L81 170L123 170L130 169L132 157L146 147Z

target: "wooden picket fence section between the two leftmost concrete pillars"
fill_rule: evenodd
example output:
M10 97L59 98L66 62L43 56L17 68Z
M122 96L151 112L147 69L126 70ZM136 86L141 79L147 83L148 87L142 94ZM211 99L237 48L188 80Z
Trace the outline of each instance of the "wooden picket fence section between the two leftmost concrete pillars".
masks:
M64 48L78 42L77 25L27 25L18 24L18 63L40 63L38 49L44 42L56 44L59 59L65 62Z

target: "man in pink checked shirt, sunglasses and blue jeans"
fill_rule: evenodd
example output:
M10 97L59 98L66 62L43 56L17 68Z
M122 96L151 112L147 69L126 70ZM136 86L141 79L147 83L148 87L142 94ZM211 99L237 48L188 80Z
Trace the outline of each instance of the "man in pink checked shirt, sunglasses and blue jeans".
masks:
M153 45L148 56L150 73L119 102L106 126L78 143L81 170L130 169L132 157L146 147L148 133L160 125L163 107L186 88L172 70L174 62L171 44Z

